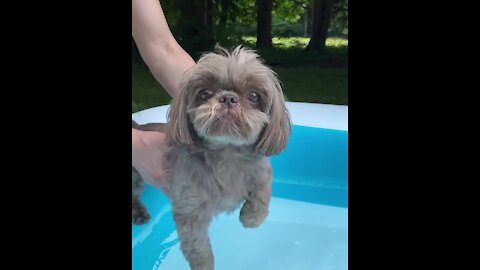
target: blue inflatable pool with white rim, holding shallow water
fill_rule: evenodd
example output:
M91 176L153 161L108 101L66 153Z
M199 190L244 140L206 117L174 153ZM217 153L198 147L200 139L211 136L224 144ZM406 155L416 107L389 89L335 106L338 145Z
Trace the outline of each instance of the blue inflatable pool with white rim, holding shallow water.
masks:
M293 129L271 157L270 214L245 229L239 211L217 216L209 235L218 270L347 270L348 107L287 102ZM134 113L139 124L165 122L168 106ZM149 223L132 225L132 270L189 270L171 206L158 190L142 196Z

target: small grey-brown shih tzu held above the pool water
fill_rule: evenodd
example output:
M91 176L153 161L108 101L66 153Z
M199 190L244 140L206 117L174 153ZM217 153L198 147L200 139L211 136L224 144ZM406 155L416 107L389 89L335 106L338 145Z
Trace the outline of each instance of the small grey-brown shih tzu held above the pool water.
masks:
M252 50L216 47L188 70L168 123L133 123L166 132L168 196L181 250L194 270L212 270L212 218L243 206L240 222L254 228L268 214L272 171L267 156L281 152L291 131L275 73ZM133 223L148 221L139 200L142 180L132 168Z

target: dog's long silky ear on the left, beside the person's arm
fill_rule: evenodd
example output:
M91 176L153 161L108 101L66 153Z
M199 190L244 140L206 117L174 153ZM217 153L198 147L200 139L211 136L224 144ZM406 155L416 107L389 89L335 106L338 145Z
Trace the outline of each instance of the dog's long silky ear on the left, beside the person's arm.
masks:
M178 95L172 100L168 111L166 142L171 146L182 146L193 149L195 142L192 128L188 119L187 107L189 102L187 79L180 83Z

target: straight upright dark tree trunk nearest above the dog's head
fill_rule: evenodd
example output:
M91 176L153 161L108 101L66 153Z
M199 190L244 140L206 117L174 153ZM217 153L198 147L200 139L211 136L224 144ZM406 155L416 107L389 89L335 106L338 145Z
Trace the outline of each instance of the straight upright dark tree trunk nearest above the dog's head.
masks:
M257 48L272 47L272 0L257 2Z

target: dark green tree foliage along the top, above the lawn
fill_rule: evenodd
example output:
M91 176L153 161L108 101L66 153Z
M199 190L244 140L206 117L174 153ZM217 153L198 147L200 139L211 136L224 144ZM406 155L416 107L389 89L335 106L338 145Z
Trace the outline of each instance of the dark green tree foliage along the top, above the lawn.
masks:
M257 24L257 1L271 1L271 20L262 22L271 27ZM315 10L315 4L329 1L329 11L321 11L329 13L329 18L319 23L321 9ZM238 44L242 36L256 35L258 27L263 29L260 39L267 40L265 44L271 39L268 33L308 35L314 47L321 47L328 34L348 35L348 0L162 0L162 7L175 38L191 54L210 50L216 42L226 46ZM132 52L138 54L134 44Z

